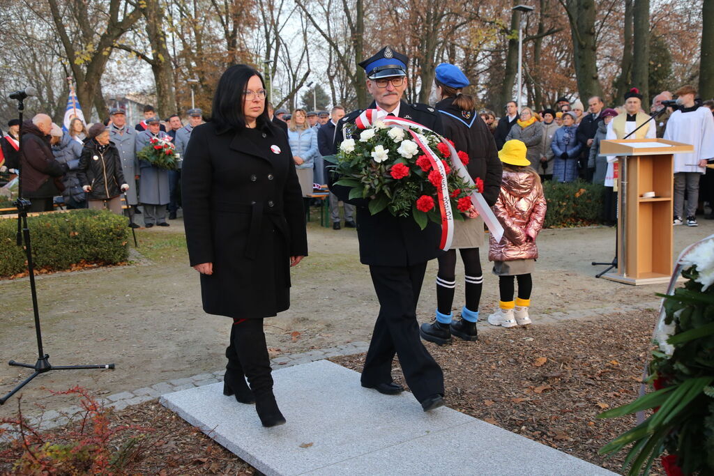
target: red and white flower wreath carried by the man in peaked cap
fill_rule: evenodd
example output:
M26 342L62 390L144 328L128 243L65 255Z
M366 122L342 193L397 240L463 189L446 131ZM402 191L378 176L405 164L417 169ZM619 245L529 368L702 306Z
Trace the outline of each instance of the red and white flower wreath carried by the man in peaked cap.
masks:
M372 215L386 208L393 216L412 216L421 229L430 219L442 223L445 209L457 220L464 217L451 209L473 209L471 193L481 193L483 183L478 179L471 185L458 173L451 141L401 118L383 118L362 128L361 124L347 126L352 138L327 159L336 164L336 185L351 188L350 199L371 198ZM465 152L456 154L459 166L468 164Z

